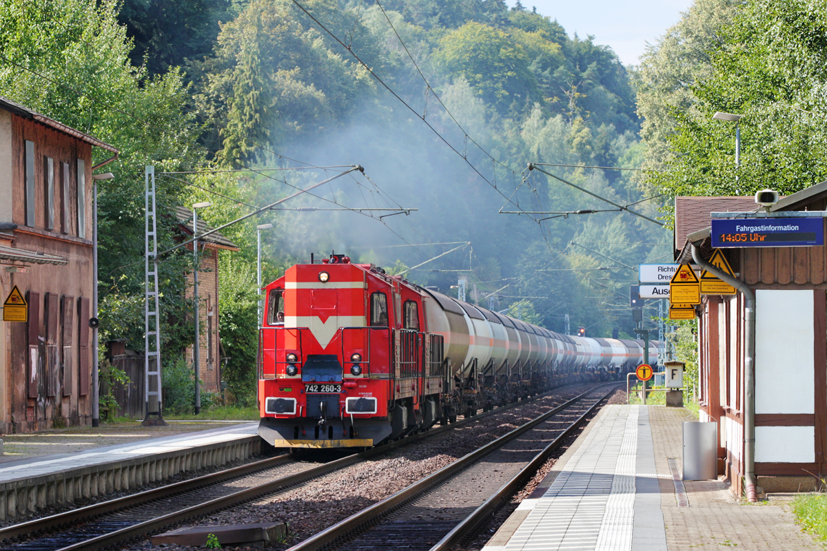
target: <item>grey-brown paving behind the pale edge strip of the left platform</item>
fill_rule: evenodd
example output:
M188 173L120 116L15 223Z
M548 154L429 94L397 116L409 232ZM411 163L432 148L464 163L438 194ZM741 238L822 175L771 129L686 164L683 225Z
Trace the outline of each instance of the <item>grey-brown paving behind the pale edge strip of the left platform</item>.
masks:
M43 430L17 435L2 435L0 464L18 463L45 455L78 454L118 444L132 444L146 439L183 435L201 430L222 429L246 421L239 420L169 420L168 426L141 426L140 421L103 423L66 429Z

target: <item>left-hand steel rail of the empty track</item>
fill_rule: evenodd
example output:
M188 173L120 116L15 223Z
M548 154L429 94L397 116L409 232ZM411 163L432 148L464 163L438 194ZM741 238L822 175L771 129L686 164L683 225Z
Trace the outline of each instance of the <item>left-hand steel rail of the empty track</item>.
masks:
M426 492L430 488L436 486L437 484L446 481L448 478L452 477L454 474L461 472L467 467L470 467L473 463L477 463L480 458L485 457L486 455L490 454L491 452L499 449L503 444L508 443L510 440L517 438L519 435L523 435L528 430L533 429L535 426L543 423L543 421L547 420L549 417L552 417L559 413L560 411L565 410L569 406L572 406L578 401L581 401L588 395L595 392L596 388L605 387L606 384L612 384L617 386L616 382L611 383L604 383L602 385L596 385L592 387L590 390L581 393L580 395L571 398L571 400L564 402L560 406L555 407L551 411L547 411L542 416L538 416L536 419L530 420L524 425L519 426L518 428L510 431L509 433L500 436L500 438L491 441L488 444L474 450L473 452L466 454L465 456L457 459L453 463L446 465L445 467L439 469L435 473L431 473L428 477L419 480L418 482L414 482L409 487L404 488L400 492L396 492L392 496L385 497L385 499L381 501L377 501L371 506L366 507L362 511L359 511L355 515L351 515L347 517L347 519L338 522L335 525L328 527L325 530L322 530L318 534L311 536L308 539L305 539L303 542L290 547L287 551L313 551L315 549L320 549L327 544L331 544L336 539L341 538L348 532L352 530L357 530L360 526L366 525L374 520L376 517L391 511L396 506L401 505L404 501L408 501L409 499ZM609 393L614 392L609 391ZM606 395L608 396L608 394ZM603 401L604 397L601 397L600 400L595 402L595 406ZM594 408L594 406L592 406ZM578 419L576 422L581 422L581 419Z

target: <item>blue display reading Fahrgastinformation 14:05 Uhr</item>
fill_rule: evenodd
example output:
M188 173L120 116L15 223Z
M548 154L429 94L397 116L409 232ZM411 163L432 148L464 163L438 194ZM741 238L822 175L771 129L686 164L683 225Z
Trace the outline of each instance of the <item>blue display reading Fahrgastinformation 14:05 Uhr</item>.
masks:
M713 218L712 247L824 245L823 218Z

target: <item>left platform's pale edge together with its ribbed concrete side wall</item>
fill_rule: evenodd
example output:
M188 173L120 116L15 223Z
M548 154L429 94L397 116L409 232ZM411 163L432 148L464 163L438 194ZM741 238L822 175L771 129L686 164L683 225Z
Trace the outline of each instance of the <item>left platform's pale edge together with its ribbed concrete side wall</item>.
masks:
M84 432L26 435L28 439L41 440L54 437L51 445L59 450L62 440L80 436L89 440L91 447L74 453L4 457L7 460L0 463L0 520L14 520L51 506L69 506L84 498L141 487L179 473L260 454L257 428L256 421L236 422L103 446L95 446L93 436Z

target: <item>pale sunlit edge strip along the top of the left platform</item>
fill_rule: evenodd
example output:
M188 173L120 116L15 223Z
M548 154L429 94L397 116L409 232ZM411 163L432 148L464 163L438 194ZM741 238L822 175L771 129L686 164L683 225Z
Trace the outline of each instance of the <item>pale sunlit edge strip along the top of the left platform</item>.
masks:
M246 421L225 424L215 429L187 432L160 438L140 439L124 444L91 448L74 454L41 455L0 463L0 482L25 479L70 469L90 467L103 463L163 454L179 449L188 449L234 439L243 439L257 434L258 423ZM31 435L36 436L36 435ZM58 448L58 446L55 446Z

